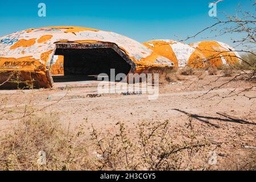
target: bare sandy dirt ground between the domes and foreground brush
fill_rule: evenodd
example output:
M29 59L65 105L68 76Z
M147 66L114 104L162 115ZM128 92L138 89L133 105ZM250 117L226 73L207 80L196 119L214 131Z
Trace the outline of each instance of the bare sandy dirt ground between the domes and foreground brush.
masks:
M199 80L196 76L184 76L183 80L175 83L161 84L157 100L148 100L145 94L123 96L121 94L103 94L101 97L90 98L88 94L95 94L95 87L39 90L0 90L1 109L18 107L24 109L26 105L34 105L37 109L59 114L64 127L72 130L82 124L93 125L97 129L115 131L116 123L125 123L132 131L135 125L142 121L169 120L171 132L182 138L187 130L189 117L192 114L192 125L199 137L204 137L213 144L221 144L217 148L218 158L224 159L230 155L243 155L255 152L256 135L256 96L254 83L241 80L230 82L229 77L217 79L217 76L205 76ZM237 95L238 94L238 95ZM243 96L245 94L245 96ZM223 98L226 97L226 98ZM18 106L17 106L18 105ZM243 119L243 123L233 121L217 113L226 113ZM6 131L15 126L17 119L3 119L0 131Z

